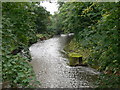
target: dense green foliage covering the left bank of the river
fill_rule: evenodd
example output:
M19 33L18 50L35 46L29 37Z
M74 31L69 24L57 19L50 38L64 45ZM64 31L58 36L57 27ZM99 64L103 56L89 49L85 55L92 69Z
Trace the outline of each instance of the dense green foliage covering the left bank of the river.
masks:
M36 13L38 10L40 13ZM37 41L38 16L45 9L39 3L2 3L2 78L9 87L33 87L37 85L28 48ZM43 14L42 14L43 13ZM46 17L41 20L44 21ZM39 23L39 22L38 22ZM43 26L39 26L44 28ZM27 52L23 54L22 52Z

